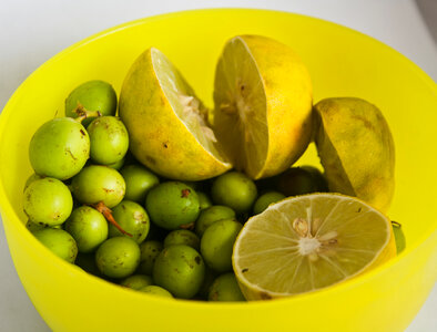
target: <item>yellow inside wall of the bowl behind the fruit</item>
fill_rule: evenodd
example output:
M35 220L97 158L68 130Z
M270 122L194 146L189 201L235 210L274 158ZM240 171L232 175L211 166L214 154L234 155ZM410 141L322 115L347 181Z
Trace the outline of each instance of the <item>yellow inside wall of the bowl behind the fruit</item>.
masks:
M257 10L192 11L135 21L91 37L38 69L1 115L3 218L8 215L13 225L26 222L21 199L24 181L32 173L30 138L42 123L63 116L64 98L73 87L99 79L113 84L119 93L131 63L142 51L155 46L212 106L217 58L227 39L243 33L267 35L292 46L311 72L314 102L357 96L383 111L396 147L396 190L388 215L403 225L407 251L429 237L437 225L429 212L437 203L431 191L437 185L435 83L406 58L364 34L303 15ZM298 164L319 166L314 146ZM27 236L24 227L18 231ZM78 278L89 277L82 273Z

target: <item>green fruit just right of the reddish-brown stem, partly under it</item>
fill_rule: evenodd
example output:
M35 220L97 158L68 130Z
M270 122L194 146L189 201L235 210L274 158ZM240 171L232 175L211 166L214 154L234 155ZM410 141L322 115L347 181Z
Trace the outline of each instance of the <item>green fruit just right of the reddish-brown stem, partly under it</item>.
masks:
M112 209L112 216L123 230L132 236L136 243L144 241L149 234L149 216L141 205L131 200L123 200ZM109 226L109 237L122 237L123 235L112 224Z

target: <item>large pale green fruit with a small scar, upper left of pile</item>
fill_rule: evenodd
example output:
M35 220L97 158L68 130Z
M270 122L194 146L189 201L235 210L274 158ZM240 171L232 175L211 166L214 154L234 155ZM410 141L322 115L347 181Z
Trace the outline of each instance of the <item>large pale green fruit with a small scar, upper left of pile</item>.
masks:
M90 137L85 128L70 117L44 123L29 145L29 159L34 172L61 180L78 174L89 156Z

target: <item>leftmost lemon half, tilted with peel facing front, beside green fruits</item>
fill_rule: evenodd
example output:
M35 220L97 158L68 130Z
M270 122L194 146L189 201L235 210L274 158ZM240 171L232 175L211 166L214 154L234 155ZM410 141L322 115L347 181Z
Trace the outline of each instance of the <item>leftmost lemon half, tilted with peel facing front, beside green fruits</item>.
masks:
M232 167L220 152L206 107L154 48L132 64L120 93L119 112L132 154L159 175L202 180Z

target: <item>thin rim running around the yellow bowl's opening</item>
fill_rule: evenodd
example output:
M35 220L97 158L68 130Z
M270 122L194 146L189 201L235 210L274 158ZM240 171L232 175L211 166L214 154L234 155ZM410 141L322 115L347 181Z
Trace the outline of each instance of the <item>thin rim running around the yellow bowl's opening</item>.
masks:
M146 24L149 22L153 21L159 21L159 20L167 20L172 19L175 17L181 17L181 15L199 15L203 13L231 13L231 12L240 12L240 13L250 13L250 12L265 12L270 14L287 14L291 18L292 17L297 17L301 19L305 20L311 20L311 21L317 21L318 23L328 25L329 28L334 28L341 31L346 31L347 33L353 33L357 38L367 40L368 42L372 43L377 43L379 44L380 48L383 48L386 52L390 52L394 56L397 56L398 59L402 59L402 61L405 63L406 68L415 72L418 77L420 77L425 85L430 89L434 95L437 96L437 85L433 81L431 77L429 77L417 64L415 64L411 60L409 60L407 56L402 54L400 52L396 51L392 46L383 43L382 41L378 41L377 39L365 34L363 32L359 32L357 30L354 30L352 28L319 19L316 17L311 17L306 14L301 14L301 13L294 13L294 12L287 12L287 11L281 11L281 10L272 10L272 9L255 9L255 8L207 8L207 9L194 9L194 10L183 10L183 11L174 11L174 12L167 12L167 13L161 13L152 17L144 17L140 18L136 20L128 21L118 25L114 25L112 28L104 29L100 32L96 32L94 34L91 34L90 37L82 39L72 45L65 48L64 50L58 52L55 55L51 56L49 60L43 62L40 66L38 66L13 92L13 94L10 96L8 100L7 104L3 107L3 111L0 114L0 134L6 132L6 125L12 114L12 108L16 103L16 100L19 97L20 92L29 84L29 81L37 75L39 72L43 71L45 66L49 66L51 63L55 61L62 60L64 56L70 54L71 52L74 52L75 50L87 45L90 42L96 41L99 39L105 38L112 33L116 33L119 31L122 31L124 29L130 29L135 25L141 25L141 24ZM232 309L234 310L235 308L238 308L241 310L252 310L254 307L261 307L265 308L267 305L282 305L282 303L285 302L298 302L298 301L307 301L311 300L313 297L321 297L321 295L332 295L333 293L339 291L344 292L349 289L353 289L355 287L359 287L363 283L370 282L373 279L375 279L378 276L382 276L383 273L388 273L389 270L392 270L395 266L399 263L400 260L407 259L414 255L414 252L418 251L421 247L426 246L428 241L434 241L437 242L437 218L430 224L429 228L418 237L416 240L415 245L413 246L407 246L406 249L397 255L395 258L390 259L389 261L385 262L382 266L378 266L374 268L370 271L367 271L366 273L363 273L360 276L357 276L355 278L348 279L346 281L336 283L331 287L326 287L324 289L319 289L316 291L312 292L306 292L306 293L301 293L292 297L286 297L286 298L281 298L281 299L275 299L275 301L248 301L248 302L214 302L214 303L207 303L205 301L193 301L193 300L184 300L184 299L177 299L177 301L174 301L173 299L166 299L166 298L161 298L161 297L154 297L146 293L141 293L138 291L132 291L130 289L125 289L123 287L120 287L118 284L111 283L104 279L101 279L99 277L92 276L85 271L83 271L81 268L68 263L67 261L62 260L61 258L57 257L54 253L52 253L49 249L47 249L42 243L40 243L32 235L31 232L26 228L24 222L22 222L18 216L18 214L14 211L12 205L10 201L7 199L7 194L6 194L6 188L4 184L1 180L0 177L0 211L2 216L8 216L8 221L2 218L3 221L3 227L7 222L12 225L13 227L18 228L18 232L22 237L26 238L27 241L30 241L32 247L34 247L35 250L40 251L41 255L49 257L51 256L54 259L54 262L57 264L60 264L62 269L67 269L70 273L73 273L74 277L77 278L85 278L89 282L92 282L95 284L95 287L103 287L103 288L109 288L110 291L112 292L123 292L125 297L142 297L144 301L151 301L157 303L165 303L165 305L181 305L183 303L184 305L189 305L193 309L202 309L205 310L206 308L213 308L214 310L217 309ZM20 224L20 225L18 225ZM433 227L434 226L434 227ZM6 232L7 236L7 232ZM9 247L9 245L8 245ZM44 253L45 252L45 253ZM140 299L140 298L138 298Z

